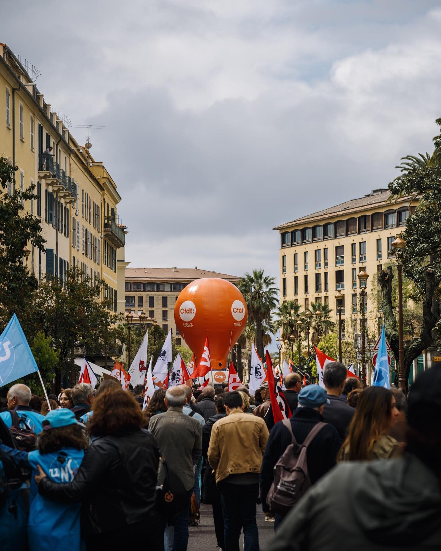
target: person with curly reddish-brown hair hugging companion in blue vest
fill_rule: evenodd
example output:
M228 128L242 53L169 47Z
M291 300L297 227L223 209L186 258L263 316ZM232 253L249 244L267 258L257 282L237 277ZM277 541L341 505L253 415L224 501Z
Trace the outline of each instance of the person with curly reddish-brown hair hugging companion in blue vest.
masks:
M81 504L87 549L125 549L146 543L163 548L164 524L156 512L159 450L143 430L144 418L130 392L107 388L93 405L87 430L92 444L72 482L55 483L39 467L40 495Z

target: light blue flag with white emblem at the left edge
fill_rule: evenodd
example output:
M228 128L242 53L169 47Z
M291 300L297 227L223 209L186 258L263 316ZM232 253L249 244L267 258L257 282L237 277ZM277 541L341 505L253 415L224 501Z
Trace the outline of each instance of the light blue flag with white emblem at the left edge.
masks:
M35 358L14 314L0 335L0 387L36 371Z

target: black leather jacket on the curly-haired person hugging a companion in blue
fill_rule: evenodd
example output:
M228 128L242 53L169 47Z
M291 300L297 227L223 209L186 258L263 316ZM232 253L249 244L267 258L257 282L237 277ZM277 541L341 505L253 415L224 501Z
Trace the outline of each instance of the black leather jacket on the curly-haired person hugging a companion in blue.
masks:
M46 477L38 489L61 503L81 501L81 531L90 536L154 516L158 465L158 446L147 430L102 436L85 451L71 483Z

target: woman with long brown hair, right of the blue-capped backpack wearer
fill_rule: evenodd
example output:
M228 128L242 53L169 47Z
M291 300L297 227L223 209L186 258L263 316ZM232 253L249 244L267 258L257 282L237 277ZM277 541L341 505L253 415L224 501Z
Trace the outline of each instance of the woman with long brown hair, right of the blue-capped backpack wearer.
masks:
M398 411L390 390L371 386L361 392L337 461L368 461L401 455L400 445L389 436Z

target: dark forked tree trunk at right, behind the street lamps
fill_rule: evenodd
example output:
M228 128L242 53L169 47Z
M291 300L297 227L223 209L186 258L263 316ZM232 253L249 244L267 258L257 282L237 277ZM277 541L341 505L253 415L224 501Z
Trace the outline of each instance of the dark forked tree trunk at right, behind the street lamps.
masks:
M425 274L425 292L423 296L423 323L421 326L420 337L415 339L404 350L404 365L406 369L406 385L409 377L410 369L413 360L417 358L423 350L426 350L432 342L432 329L437 322L437 317L434 314L433 309L433 295L435 292L435 274L432 271L426 271ZM397 321L394 314L394 306L392 305L392 279L394 279L394 273L392 267L389 266L388 270L381 270L378 276L378 282L380 284L381 291L383 293L383 301L381 307L383 309L383 318L385 323L385 334L390 348L395 357L395 385L398 386L400 376L400 348L399 348L399 332L397 331Z

